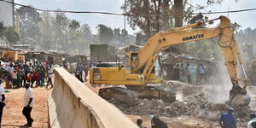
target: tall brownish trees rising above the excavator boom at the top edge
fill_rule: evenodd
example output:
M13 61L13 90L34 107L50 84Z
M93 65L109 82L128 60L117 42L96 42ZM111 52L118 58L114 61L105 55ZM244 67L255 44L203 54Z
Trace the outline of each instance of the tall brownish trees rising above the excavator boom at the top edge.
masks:
M177 26L182 26L193 12L187 0L126 0L121 9L128 15L130 26L142 29L147 39L156 32L172 28L174 20Z

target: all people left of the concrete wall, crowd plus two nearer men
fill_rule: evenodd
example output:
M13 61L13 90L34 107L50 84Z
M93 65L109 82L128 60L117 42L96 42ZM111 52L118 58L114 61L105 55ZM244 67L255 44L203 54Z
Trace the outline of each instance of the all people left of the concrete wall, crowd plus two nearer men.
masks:
M0 127L5 106L3 81L5 89L25 87L22 113L27 121L24 126L30 127L33 122L31 112L35 104L32 88L38 86L48 88L49 85L52 88L53 77L53 67L48 61L0 61ZM46 85L45 79L47 79Z

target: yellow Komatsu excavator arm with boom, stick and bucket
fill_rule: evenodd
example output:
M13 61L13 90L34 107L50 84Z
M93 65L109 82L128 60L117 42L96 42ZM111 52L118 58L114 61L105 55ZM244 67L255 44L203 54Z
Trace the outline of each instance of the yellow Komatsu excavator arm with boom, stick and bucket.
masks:
M191 41L203 40L207 38L219 38L218 45L223 50L225 66L228 68L233 89L230 90L229 103L248 104L250 97L247 96L247 76L241 61L241 56L234 38L230 20L225 16L220 16L220 25L214 28L193 29L195 26L204 25L206 22L199 22L193 25L177 28L171 32L158 32L149 38L148 43L137 52L136 59L131 59L132 73L143 73L145 81L148 80L154 68L154 63L160 51L168 46L184 44ZM237 62L241 64L245 79L239 79L236 71ZM239 85L243 82L243 88ZM238 102L237 102L238 101Z

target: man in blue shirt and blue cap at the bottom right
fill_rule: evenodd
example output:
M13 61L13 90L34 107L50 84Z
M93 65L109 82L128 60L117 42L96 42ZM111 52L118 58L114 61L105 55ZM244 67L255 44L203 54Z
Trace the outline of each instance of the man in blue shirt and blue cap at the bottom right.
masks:
M221 128L236 128L236 117L232 114L234 108L228 108L228 113L223 113L219 118Z

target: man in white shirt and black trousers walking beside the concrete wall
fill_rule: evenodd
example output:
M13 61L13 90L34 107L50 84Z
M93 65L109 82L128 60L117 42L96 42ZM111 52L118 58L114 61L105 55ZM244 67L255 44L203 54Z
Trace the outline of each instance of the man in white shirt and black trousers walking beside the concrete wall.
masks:
M31 118L31 111L35 104L34 96L33 96L33 91L30 88L30 84L25 84L25 88L26 88L26 91L24 94L24 103L23 103L24 108L22 110L22 113L26 117L27 124L24 126L32 126L32 122L34 120Z

